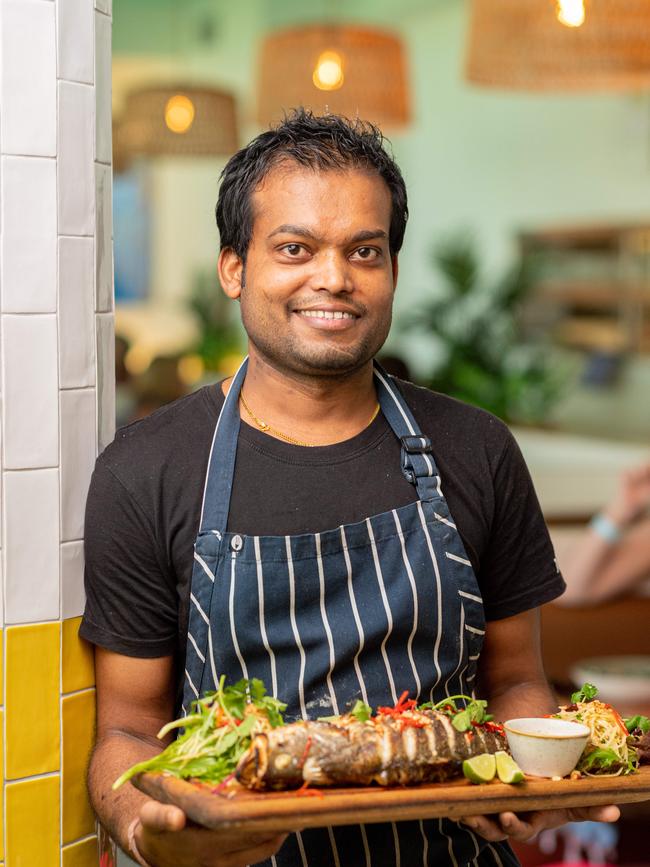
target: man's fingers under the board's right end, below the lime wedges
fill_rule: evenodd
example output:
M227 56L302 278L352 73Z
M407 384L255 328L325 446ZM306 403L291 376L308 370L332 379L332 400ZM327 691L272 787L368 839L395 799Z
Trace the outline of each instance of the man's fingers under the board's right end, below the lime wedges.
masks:
M517 840L524 843L547 828L557 828L567 822L616 822L621 811L607 807L574 807L570 810L539 810L534 813L499 813L496 816L466 816L460 819L479 836L491 843Z

